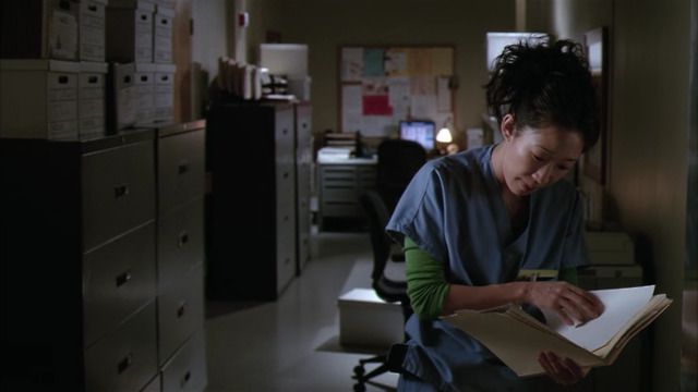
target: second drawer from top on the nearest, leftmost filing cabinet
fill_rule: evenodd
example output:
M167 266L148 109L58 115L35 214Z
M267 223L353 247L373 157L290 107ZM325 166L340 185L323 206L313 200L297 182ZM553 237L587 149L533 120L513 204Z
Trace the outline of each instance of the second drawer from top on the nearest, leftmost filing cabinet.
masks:
M84 256L85 345L155 297L155 223Z

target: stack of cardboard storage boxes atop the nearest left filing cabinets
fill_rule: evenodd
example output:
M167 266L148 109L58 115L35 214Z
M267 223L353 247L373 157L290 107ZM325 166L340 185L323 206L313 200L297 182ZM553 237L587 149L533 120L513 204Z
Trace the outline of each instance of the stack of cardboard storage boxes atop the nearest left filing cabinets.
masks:
M173 7L2 1L0 137L89 139L171 123Z

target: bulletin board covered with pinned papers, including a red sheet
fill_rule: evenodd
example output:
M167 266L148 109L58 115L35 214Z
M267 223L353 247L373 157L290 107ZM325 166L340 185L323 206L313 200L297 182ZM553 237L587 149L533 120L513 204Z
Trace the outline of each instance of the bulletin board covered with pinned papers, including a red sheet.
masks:
M339 128L385 137L402 120L456 125L453 46L339 48Z

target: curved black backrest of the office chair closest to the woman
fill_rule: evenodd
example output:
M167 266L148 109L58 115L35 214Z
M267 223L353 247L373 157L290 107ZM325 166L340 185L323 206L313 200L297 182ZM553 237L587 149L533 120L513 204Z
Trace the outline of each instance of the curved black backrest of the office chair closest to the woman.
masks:
M359 198L369 221L369 233L373 248L373 271L371 281L378 297L386 302L401 302L408 306L407 283L390 280L385 275L385 267L390 259L392 240L385 232L389 212L381 196L368 191Z

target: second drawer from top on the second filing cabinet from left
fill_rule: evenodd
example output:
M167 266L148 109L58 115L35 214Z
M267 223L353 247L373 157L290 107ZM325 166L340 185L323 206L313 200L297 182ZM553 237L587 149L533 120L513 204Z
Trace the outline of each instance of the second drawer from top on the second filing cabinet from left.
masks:
M158 286L169 285L204 258L204 200L181 206L158 219Z

